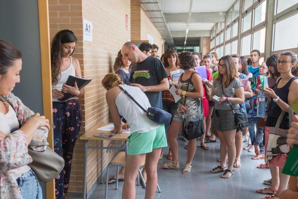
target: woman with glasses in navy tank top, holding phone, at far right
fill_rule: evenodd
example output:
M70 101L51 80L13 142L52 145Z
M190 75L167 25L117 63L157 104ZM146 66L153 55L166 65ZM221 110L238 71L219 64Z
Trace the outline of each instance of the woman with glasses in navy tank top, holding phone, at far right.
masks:
M284 52L280 54L275 63L277 64L278 72L281 74L281 77L277 79L276 89L260 87L260 89L266 92L270 101L266 127L275 127L277 119L283 110L285 115L281 121L280 128L289 129L288 105L292 104L298 97L297 56L290 51ZM267 144L267 146L270 145L270 143ZM267 147L265 146L265 148ZM272 185L270 188L258 189L257 192L273 195L264 198L278 199L278 195L287 189L290 176L282 173L284 164L285 161L279 161L279 163L274 163L274 165L269 162Z

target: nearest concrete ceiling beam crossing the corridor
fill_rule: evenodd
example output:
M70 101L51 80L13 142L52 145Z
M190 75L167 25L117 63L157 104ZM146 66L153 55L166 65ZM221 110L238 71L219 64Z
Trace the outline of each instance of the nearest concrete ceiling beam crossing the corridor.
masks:
M188 13L164 13L167 23L187 23ZM217 23L224 22L226 12L191 13L190 23Z

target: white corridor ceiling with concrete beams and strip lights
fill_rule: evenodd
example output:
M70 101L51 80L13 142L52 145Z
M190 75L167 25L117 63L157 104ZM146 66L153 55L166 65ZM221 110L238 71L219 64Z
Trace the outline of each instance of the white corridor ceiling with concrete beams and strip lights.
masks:
M215 23L225 21L226 11L235 1L147 0L146 3L159 4L167 26L167 28L163 27L167 31L165 40L170 47L175 46L177 51L181 52L184 48L192 51L191 47L200 46L200 37L210 36L210 30ZM140 0L140 2L144 4L144 0ZM150 18L154 22L152 17ZM160 24L154 24L159 27L158 29L161 28Z

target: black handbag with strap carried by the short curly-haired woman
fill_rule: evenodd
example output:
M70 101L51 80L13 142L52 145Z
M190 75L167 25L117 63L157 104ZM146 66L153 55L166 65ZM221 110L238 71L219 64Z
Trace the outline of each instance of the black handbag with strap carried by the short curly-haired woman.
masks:
M189 78L189 81L188 81L188 84L187 84L187 87L186 87L186 92L188 91L188 86L190 84L191 77L193 76L194 73L196 73L196 72L193 72L190 75L190 78ZM185 96L185 98L184 98L183 106L185 106L186 98L187 98L187 96ZM201 101L201 105L202 105L202 101ZM201 107L201 111L202 111L202 107ZM196 138L201 137L205 133L202 120L198 120L196 122L190 122L187 125L186 124L186 119L184 118L184 114L182 115L182 118L183 118L182 135L185 139L187 139L187 140L196 139Z

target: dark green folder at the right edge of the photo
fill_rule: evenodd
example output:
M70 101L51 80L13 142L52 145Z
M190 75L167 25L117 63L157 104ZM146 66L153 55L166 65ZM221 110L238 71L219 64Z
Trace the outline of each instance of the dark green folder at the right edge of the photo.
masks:
M291 150L282 173L291 176L298 176L298 145L294 145Z

